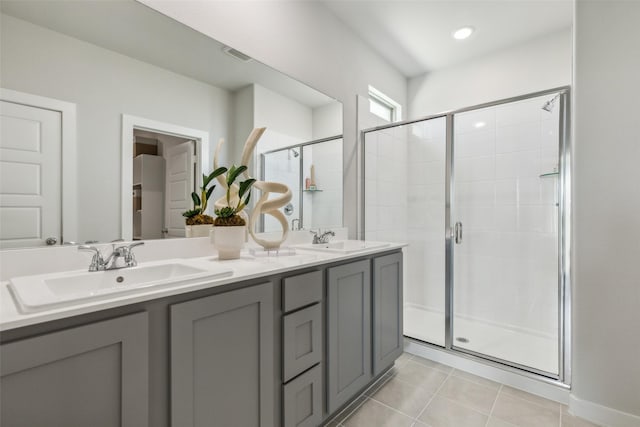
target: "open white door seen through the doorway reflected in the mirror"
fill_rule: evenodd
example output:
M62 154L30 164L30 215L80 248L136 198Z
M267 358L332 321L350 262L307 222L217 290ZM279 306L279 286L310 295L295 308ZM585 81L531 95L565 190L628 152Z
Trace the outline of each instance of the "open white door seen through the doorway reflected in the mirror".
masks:
M185 237L182 213L193 208L191 192L194 190L195 144L193 141L167 150L165 228L167 237Z

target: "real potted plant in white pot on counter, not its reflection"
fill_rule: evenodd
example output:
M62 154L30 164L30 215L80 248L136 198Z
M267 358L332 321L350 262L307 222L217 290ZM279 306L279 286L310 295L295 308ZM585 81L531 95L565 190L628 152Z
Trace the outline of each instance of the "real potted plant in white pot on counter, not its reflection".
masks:
M246 166L231 166L227 171L226 206L218 206L212 233L212 242L218 250L219 259L240 258L240 250L244 246L246 221L240 212L247 206L251 198L251 186L255 179L249 178L234 184Z

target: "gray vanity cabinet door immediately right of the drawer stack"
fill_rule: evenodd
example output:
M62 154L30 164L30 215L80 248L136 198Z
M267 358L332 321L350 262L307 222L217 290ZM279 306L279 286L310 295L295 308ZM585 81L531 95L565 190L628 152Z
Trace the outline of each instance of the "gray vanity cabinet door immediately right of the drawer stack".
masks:
M369 260L327 270L327 412L372 378Z

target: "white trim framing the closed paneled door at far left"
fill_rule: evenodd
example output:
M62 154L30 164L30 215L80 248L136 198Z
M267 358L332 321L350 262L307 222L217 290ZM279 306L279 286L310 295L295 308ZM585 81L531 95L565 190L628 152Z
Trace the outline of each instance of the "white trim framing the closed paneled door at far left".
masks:
M62 116L61 239L78 240L78 152L76 137L76 104L59 99L0 88L4 101L58 111ZM62 241L60 242L62 244Z

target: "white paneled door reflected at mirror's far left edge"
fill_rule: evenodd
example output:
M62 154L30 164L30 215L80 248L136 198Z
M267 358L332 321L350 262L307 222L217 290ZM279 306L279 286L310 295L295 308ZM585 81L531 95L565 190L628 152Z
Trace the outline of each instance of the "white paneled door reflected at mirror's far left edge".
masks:
M61 239L62 115L0 101L0 247Z

